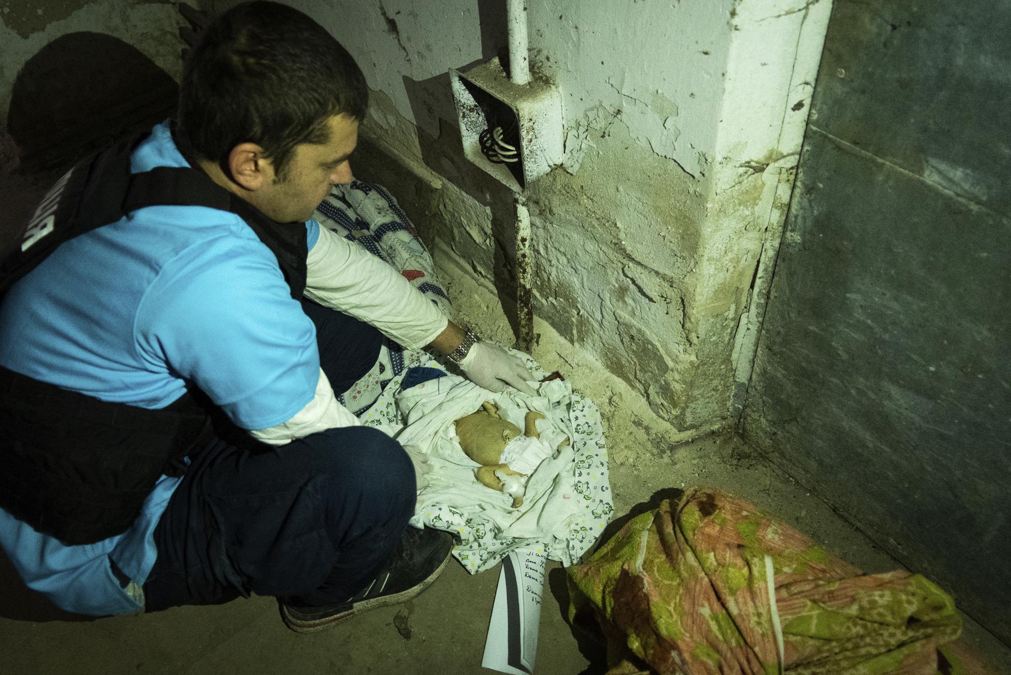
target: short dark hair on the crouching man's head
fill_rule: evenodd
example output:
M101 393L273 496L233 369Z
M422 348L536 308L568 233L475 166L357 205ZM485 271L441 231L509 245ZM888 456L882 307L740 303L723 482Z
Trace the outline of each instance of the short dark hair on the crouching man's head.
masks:
M333 35L296 9L248 2L216 17L183 71L178 133L189 150L221 164L239 143L264 149L278 178L299 143L326 143L327 121L358 121L365 77Z

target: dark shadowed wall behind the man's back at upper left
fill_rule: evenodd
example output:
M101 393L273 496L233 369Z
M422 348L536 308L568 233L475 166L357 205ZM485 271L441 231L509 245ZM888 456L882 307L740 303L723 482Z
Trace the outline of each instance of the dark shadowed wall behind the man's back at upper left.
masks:
M172 113L184 24L169 3L0 3L0 250L67 166Z

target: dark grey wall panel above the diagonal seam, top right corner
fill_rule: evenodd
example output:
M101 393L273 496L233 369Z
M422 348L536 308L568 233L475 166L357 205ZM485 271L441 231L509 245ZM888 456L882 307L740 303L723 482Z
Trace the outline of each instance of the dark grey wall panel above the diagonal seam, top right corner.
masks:
M1011 215L1011 2L836 2L814 123Z

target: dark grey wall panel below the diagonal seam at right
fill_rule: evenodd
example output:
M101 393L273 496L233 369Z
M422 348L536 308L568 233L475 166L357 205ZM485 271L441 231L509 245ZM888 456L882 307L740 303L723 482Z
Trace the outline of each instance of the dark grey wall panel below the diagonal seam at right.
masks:
M746 437L1011 636L1011 222L805 156Z

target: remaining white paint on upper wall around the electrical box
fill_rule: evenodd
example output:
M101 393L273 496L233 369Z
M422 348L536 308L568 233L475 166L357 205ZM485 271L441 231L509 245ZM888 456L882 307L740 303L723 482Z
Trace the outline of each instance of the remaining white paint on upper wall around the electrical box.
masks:
M452 110L445 101L420 93L416 83L437 80L504 45L504 33L501 44L482 44L481 6L474 0L289 4L319 21L355 55L369 86L385 92L399 115L436 136L439 117L451 119ZM531 3L533 65L561 87L567 128L589 123L587 115L604 106L644 148L698 176L705 173L706 158L714 156L733 4ZM584 152L574 144L579 138L571 137L567 149L573 152L569 169L578 166Z

